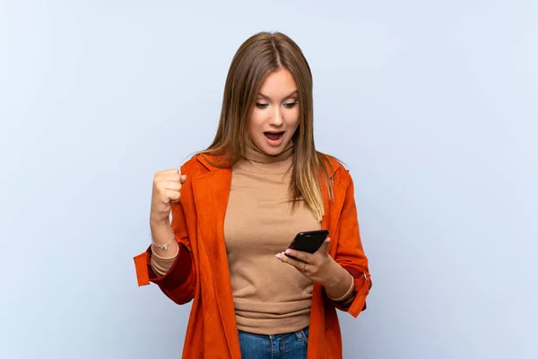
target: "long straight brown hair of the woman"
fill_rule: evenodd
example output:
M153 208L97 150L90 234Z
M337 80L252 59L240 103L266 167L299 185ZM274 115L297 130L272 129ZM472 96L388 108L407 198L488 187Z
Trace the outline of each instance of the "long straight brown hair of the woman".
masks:
M294 205L303 198L321 221L325 214L322 185L325 183L332 198L329 173L333 168L329 157L317 152L314 144L312 73L307 59L299 46L281 32L259 32L239 47L226 78L217 134L213 144L201 153L217 155L220 160L213 164L219 167L232 166L246 154L248 124L257 94L267 75L282 67L291 72L299 92L299 127L292 136L291 198Z

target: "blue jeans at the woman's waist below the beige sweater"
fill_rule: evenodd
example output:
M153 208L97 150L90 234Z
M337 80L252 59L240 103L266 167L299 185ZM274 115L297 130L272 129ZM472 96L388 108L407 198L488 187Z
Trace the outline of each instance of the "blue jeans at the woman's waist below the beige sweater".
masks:
M243 359L306 359L308 328L274 336L239 330L239 345Z

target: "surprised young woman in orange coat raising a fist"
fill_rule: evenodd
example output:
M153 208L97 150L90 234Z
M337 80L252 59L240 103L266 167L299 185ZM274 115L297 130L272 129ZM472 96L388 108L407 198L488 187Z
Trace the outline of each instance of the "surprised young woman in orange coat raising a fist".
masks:
M357 317L371 287L353 191L316 151L300 48L279 32L247 39L213 144L155 174L152 244L134 258L139 285L193 301L183 358L342 358L335 308ZM314 254L288 249L320 229Z

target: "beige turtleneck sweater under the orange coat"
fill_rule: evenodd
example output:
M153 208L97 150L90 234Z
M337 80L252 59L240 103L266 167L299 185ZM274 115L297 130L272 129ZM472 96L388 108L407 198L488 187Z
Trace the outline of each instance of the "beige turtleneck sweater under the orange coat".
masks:
M274 257L298 232L321 227L303 201L291 208L292 152L291 145L278 156L252 149L231 170L224 237L238 328L250 333L289 333L309 324L312 281ZM173 262L152 256L158 275Z

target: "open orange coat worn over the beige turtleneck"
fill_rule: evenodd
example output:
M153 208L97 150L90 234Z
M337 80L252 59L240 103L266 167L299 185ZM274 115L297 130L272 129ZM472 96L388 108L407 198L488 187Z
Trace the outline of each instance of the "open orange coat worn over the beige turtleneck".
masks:
M342 337L335 308L357 317L366 308L371 287L368 259L360 243L353 182L342 165L334 167L334 201L324 189L321 227L330 231L329 254L355 277L355 299L340 307L314 284L308 336L308 359L342 358ZM187 325L183 359L239 359L238 329L224 242L224 215L231 170L214 167L196 155L181 167L187 180L180 202L172 207L172 227L180 244L178 259L165 276L149 266L151 247L134 257L138 285L153 282L172 301L194 300Z

